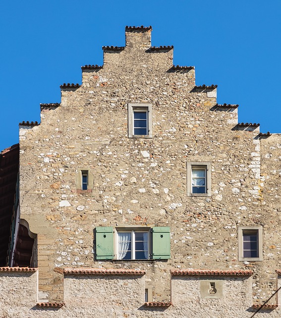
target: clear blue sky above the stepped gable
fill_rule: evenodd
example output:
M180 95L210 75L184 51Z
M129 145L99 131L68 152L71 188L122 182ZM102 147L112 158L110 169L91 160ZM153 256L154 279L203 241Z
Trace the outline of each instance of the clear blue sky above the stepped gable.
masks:
M0 8L0 150L20 121L40 121L59 85L103 64L103 45L123 46L126 25L152 25L152 45L173 45L174 65L196 84L218 84L218 103L239 104L239 122L281 133L280 0L10 0Z

